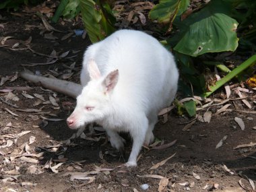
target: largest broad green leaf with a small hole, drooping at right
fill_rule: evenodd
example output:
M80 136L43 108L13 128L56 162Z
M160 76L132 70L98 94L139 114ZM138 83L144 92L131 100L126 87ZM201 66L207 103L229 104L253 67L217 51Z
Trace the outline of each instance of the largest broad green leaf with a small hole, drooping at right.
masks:
M183 21L181 34L177 34L180 40L174 50L193 57L203 53L236 50L238 23L228 16L230 8L228 3L214 0L193 13Z

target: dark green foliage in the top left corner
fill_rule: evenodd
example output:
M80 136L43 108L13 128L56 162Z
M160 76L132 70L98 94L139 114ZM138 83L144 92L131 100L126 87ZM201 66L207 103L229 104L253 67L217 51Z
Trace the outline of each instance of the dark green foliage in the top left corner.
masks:
M29 3L37 3L38 0L3 0L0 2L0 9L15 9L20 5L28 5Z

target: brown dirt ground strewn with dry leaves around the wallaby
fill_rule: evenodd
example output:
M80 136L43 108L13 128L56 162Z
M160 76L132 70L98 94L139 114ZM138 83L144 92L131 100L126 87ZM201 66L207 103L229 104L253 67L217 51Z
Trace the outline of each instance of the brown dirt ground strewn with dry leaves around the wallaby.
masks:
M53 36L57 38L49 39L45 36L49 32L42 32L44 26L40 18L22 12L15 15L0 12L0 15L0 24L4 24L4 27L0 26L1 78L15 76L15 72L23 71L22 64L51 62L46 61L49 58L46 55L51 55L55 50L59 55L69 51L69 55L59 57L53 64L25 68L58 78L71 75L71 69L73 75L67 80L79 82L82 54L90 41L75 34L65 40L61 38L75 29L82 29L81 22L75 25L72 22L65 22L63 26L53 25L65 33L54 31ZM6 38L3 42L7 36L12 38ZM31 42L26 41L30 36ZM20 44L17 45L17 42ZM36 53L26 49L28 44ZM74 62L75 67L71 67ZM31 88L26 94L40 94L46 101L49 96L53 96L59 105L39 102L36 96L28 98L22 95L25 92L17 88L25 86ZM6 100L8 93L3 90L12 88L14 90L11 93L19 98L17 101ZM212 111L210 123L192 121L193 125L187 131L183 129L191 119L170 113L168 121L162 123L160 117L154 129L154 134L162 141L158 146L174 140L177 140L176 143L162 150L143 148L138 166L126 168L119 166L131 152L128 135L124 135L127 139L126 157L115 151L106 142L104 132L98 129L94 135L67 142L74 133L65 123L75 106L72 98L42 90L40 86L20 77L13 82L8 80L0 86L0 90L3 99L0 101L0 191L159 191L159 186L165 188L162 191L253 191L253 182L256 181L256 148L253 145L256 142L256 131L253 129L256 116L253 114L232 110L216 115L216 110L223 105L212 106L198 112L198 115L203 115L206 110ZM36 102L39 104L36 105ZM253 104L250 111L255 111L253 99L249 102ZM238 106L249 110L241 100L230 100L228 103L232 105L230 108ZM28 108L37 110L19 110ZM243 119L244 130L234 121L235 117ZM223 139L225 136L226 139ZM216 149L222 139L222 146ZM249 147L234 149L249 143ZM173 154L162 166L152 168ZM148 189L141 188L145 184Z

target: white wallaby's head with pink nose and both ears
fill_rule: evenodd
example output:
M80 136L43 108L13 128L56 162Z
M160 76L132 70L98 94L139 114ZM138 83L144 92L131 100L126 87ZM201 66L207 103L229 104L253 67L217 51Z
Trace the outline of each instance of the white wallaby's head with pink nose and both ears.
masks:
M90 60L88 72L90 82L77 96L75 110L67 118L67 125L71 129L78 129L88 123L104 119L112 108L110 98L119 79L118 69L102 77L95 61Z

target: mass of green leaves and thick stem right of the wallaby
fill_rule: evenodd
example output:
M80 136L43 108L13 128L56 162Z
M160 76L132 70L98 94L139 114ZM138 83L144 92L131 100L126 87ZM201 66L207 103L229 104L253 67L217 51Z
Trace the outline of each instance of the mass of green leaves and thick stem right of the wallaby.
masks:
M240 32L239 45L243 49L256 50L256 1L255 0L214 0L197 7L187 18L181 13L184 7L179 6L181 1L160 1L150 11L150 18L159 23L174 26L174 36L166 40L174 50L181 72L180 88L185 94L201 94L210 96L215 90L223 86L232 77L240 78L241 72L253 65L253 60L238 66L233 71L216 61L200 61L206 57L199 57L206 53L220 53L235 51L238 47L236 31ZM185 3L183 4L185 5ZM186 13L185 13L186 15ZM174 19L175 18L175 19ZM184 19L185 18L185 19ZM240 23L240 25L238 24ZM250 28L249 28L250 26ZM169 27L170 30L170 27ZM167 31L168 32L168 31ZM197 57L193 59L192 57ZM196 61L196 62L195 62ZM194 65L196 63L196 65ZM226 77L216 82L206 90L202 71L202 64L215 65L221 71L228 73Z

